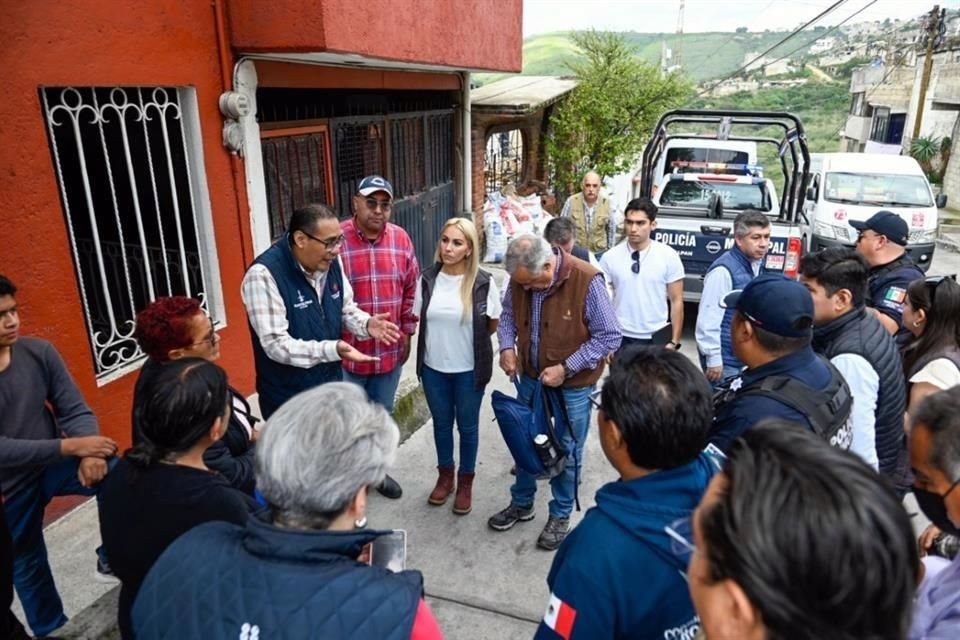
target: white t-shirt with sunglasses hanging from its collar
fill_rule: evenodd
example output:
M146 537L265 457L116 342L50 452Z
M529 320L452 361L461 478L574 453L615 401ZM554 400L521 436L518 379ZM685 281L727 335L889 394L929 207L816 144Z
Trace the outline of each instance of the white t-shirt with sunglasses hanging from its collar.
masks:
M651 240L640 252L640 272L633 272L633 249L626 240L603 254L600 268L613 287L613 308L628 338L650 339L669 321L667 285L684 276L680 255Z

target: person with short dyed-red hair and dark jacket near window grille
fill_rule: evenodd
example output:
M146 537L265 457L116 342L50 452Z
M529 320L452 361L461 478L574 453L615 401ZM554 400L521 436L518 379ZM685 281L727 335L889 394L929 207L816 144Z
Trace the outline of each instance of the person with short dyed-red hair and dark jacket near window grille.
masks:
M220 336L195 298L157 298L137 314L134 336L148 359L133 390L133 443L143 441L144 393L163 366L181 358L220 358ZM253 494L253 453L257 418L239 391L230 389L230 421L223 437L203 454L211 470L241 491Z

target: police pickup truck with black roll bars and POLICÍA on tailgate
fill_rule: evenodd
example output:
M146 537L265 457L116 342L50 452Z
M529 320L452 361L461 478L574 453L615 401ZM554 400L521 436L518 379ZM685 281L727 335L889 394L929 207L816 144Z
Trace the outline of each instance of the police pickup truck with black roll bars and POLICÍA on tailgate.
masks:
M685 128L678 131L678 128ZM708 133L705 133L709 131ZM775 132L776 137L771 135ZM717 154L729 144L730 159L740 162L688 160L667 155L678 143L698 154L697 143ZM777 199L773 181L752 164L745 144L774 145L783 190ZM741 150L739 155L736 150ZM677 159L673 159L677 158ZM683 261L683 297L698 302L703 277L714 260L733 246L733 220L746 210L764 213L771 222L767 271L795 277L803 252L803 198L809 180L810 154L800 119L789 113L756 111L674 110L660 118L643 152L639 193L659 207L654 239L673 247ZM662 173L661 173L662 172Z

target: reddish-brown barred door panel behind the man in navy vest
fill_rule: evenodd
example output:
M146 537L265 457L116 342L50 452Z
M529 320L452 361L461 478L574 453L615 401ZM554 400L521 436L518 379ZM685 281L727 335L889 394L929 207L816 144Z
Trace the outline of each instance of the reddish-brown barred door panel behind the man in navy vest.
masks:
M260 134L270 238L287 229L293 210L333 195L330 133L326 125L265 130Z

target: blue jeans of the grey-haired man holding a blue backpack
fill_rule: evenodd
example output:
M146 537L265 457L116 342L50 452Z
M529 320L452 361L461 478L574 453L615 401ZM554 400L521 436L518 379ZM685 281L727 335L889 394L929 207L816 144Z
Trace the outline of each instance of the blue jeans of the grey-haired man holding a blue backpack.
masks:
M536 388L536 380L527 376L520 376L519 399L521 402L530 402L533 390ZM580 477L579 467L583 464L583 445L587 440L587 434L590 432L590 394L593 392L593 385L589 387L579 387L577 389L560 389L563 395L563 402L567 407L567 415L570 418L570 427L576 440L570 434L569 429L563 429L560 436L560 442L564 448L570 452L567 458L567 466L563 473L550 480L550 489L553 492L553 500L550 501L550 516L553 518L566 518L573 512L574 491L576 491L575 477ZM550 403L555 416L562 416L561 409L556 402L556 395L551 390ZM562 425L562 417L559 420ZM559 430L558 430L559 431ZM576 455L573 455L576 448ZM576 470L575 463L576 461ZM517 467L517 479L510 487L510 498L513 504L518 506L530 506L537 495L537 478L527 473L519 466Z

